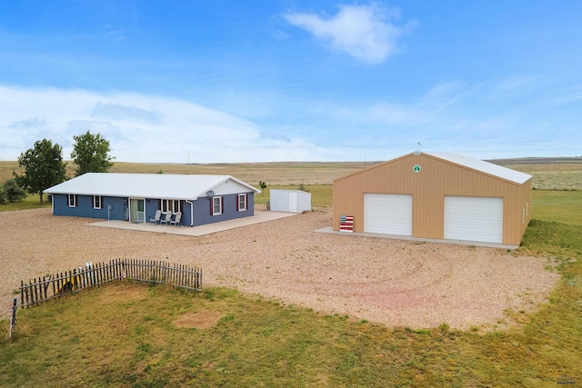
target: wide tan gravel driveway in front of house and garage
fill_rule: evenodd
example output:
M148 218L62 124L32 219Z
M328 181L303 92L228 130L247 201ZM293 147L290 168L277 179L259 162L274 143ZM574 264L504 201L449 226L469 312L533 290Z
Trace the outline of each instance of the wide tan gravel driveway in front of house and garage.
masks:
M0 212L2 316L21 280L115 258L167 257L201 266L204 285L411 328L505 327L507 308L531 311L559 278L547 259L502 249L314 232L331 220L322 209L189 237L89 226L50 209Z

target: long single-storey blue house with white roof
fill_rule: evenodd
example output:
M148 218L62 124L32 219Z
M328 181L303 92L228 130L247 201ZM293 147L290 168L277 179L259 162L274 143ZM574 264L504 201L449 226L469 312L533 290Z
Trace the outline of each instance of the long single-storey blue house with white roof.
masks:
M195 174L87 173L45 190L55 215L187 226L254 215L256 193L230 175Z

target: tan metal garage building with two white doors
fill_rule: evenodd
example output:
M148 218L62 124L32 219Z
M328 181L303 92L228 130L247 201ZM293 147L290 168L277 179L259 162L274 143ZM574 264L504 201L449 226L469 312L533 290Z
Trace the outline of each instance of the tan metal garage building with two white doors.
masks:
M406 154L334 181L336 231L519 245L530 215L531 175L463 154Z

